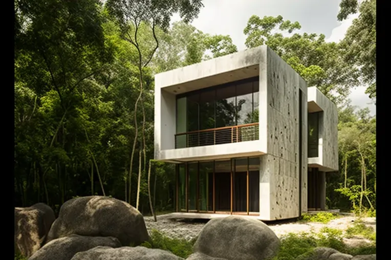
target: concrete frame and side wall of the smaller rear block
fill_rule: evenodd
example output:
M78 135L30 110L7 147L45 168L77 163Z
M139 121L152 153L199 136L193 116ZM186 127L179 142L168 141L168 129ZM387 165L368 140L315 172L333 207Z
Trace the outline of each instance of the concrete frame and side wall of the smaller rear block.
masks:
M323 111L319 118L319 157L310 159L324 171L338 170L338 111L337 106L315 86L308 88L308 102L314 102Z

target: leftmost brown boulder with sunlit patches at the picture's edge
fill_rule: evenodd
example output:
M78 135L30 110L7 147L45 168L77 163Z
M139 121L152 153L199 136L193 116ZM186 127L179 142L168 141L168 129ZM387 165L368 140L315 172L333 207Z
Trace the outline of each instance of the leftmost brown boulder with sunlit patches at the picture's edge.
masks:
M44 203L14 210L14 244L21 255L30 257L47 240L54 220L54 211Z

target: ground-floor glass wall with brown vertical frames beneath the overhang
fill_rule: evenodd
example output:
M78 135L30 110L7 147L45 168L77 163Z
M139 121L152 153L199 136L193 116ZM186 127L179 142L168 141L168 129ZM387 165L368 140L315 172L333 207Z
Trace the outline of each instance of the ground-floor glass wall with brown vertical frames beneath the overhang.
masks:
M177 165L177 211L259 212L259 157Z

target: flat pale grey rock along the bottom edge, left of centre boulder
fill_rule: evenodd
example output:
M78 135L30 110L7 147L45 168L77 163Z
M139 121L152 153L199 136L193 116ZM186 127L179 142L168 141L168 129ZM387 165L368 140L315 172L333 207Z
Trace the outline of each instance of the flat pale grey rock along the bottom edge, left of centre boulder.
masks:
M72 260L184 260L168 251L146 247L95 247L79 252Z

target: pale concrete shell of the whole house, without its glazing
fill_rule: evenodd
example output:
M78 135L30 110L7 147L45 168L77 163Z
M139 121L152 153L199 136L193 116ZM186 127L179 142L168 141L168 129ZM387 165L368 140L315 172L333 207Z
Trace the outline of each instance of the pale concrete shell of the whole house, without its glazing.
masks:
M175 148L176 95L254 76L259 76L259 140ZM267 46L157 74L155 159L180 163L259 156L259 219L298 217L307 211L307 115L313 107L327 116L322 119L321 154L311 163L338 169L338 146L328 140L335 138L335 106L311 89Z

